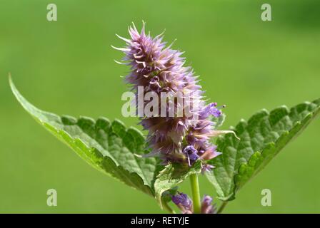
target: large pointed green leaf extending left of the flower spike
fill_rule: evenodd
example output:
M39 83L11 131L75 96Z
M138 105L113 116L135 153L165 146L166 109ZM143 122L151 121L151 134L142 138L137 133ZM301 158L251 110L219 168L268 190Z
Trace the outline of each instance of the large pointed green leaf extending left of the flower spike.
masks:
M31 105L16 89L10 78L11 90L22 107L44 128L71 147L97 170L115 177L126 185L154 196L157 175L156 159L142 158L145 139L135 128L124 127L119 120L106 118L59 116Z

